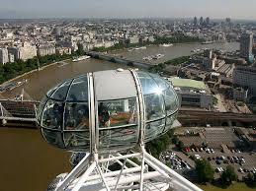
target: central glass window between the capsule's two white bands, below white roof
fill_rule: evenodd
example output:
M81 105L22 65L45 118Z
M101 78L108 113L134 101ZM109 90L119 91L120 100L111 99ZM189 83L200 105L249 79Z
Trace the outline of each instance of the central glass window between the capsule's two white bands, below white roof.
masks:
M138 137L136 105L135 97L98 102L100 148L135 145Z

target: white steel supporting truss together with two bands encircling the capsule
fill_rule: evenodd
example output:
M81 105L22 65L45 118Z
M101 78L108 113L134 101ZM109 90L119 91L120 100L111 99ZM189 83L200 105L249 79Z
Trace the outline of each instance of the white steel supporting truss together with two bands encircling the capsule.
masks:
M133 70L130 70L137 90L137 106L140 119L138 121L139 132L139 152L121 155L119 153L101 154L98 147L98 120L94 108L97 108L97 100L94 96L94 84L92 73L89 79L90 98L90 154L82 159L73 170L57 185L55 191L118 191L118 190L153 190L165 191L169 188L179 191L202 191L186 178L163 164L158 159L146 153L144 149L145 130L145 109L142 88L138 77ZM95 106L96 105L96 106ZM94 139L95 138L95 139ZM131 159L138 159L139 164ZM111 164L121 165L119 170L111 170ZM150 167L150 168L149 168ZM150 169L150 170L149 170Z

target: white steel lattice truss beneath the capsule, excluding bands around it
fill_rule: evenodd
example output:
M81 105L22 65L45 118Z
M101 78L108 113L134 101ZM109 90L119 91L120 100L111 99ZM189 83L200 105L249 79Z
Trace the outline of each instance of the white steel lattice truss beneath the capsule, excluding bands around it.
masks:
M131 159L138 159L140 164ZM119 163L120 170L111 170L110 164ZM150 170L149 170L150 167ZM59 183L56 191L86 190L191 190L202 191L189 180L149 155L143 146L139 153L112 154L99 158L88 155Z

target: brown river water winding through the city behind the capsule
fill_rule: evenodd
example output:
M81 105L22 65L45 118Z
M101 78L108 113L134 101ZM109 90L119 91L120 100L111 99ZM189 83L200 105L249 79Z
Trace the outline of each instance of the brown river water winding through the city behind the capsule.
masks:
M141 60L145 56L164 54L166 61L179 56L191 55L191 50L202 48L217 48L233 51L239 48L239 43L217 44L177 44L171 47L150 46L145 50L116 51L129 59ZM25 97L40 100L54 85L64 79L72 78L87 72L127 68L125 65L102 60L89 59L61 66L52 65L41 71L26 75L16 81L28 80L28 83L0 97L12 98L25 90ZM47 145L40 131L29 129L0 129L0 191L44 191L50 180L57 174L70 170L69 153L54 149Z

